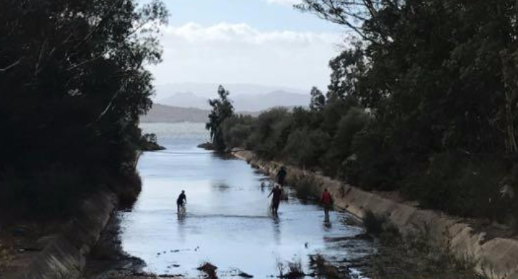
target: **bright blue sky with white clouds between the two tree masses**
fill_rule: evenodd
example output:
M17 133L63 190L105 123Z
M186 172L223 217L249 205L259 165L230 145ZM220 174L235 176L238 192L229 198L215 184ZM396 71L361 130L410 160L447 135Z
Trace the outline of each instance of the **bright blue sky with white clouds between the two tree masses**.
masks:
M293 8L297 0L164 0L156 85L253 83L325 88L342 28Z

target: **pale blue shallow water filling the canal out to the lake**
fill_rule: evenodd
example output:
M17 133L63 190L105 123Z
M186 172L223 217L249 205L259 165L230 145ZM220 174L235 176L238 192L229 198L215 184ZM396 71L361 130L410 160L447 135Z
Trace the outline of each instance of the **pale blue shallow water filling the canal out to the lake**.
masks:
M196 277L196 268L210 262L220 278L236 270L267 278L278 275L277 264L287 260L300 260L309 271L309 255L342 261L372 253L369 241L347 238L363 232L347 225L352 216L334 212L324 223L322 208L293 193L281 203L279 219L269 216L270 189L261 187L262 181L270 183L267 176L244 161L196 148L207 139L202 124L143 128L167 149L141 156L143 190L134 208L121 215L121 240L127 253L146 262L146 271ZM187 206L179 218L176 198L182 190Z

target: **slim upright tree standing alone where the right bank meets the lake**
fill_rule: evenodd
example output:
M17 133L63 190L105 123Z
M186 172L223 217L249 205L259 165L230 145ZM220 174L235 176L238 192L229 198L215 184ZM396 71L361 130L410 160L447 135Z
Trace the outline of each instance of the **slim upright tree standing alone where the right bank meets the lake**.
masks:
M230 92L226 91L223 86L219 86L218 95L219 98L209 100L212 111L209 114L209 122L206 123L205 127L211 133L214 148L217 151L224 151L226 146L222 126L226 119L234 115L234 106L229 99Z

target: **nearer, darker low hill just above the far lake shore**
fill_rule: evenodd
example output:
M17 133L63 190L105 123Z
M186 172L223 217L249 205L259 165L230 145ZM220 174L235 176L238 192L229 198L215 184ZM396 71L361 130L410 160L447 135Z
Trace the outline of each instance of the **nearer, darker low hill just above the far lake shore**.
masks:
M251 116L259 115L259 112L237 112ZM140 118L142 123L205 123L208 120L209 111L200 108L179 108L177 106L164 106L155 103L153 108L145 116Z

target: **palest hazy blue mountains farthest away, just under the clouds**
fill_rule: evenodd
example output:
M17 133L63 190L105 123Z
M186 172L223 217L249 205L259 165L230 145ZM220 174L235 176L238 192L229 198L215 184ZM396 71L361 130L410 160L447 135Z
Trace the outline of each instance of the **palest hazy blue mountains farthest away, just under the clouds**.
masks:
M214 96L215 98L215 96ZM236 111L264 111L275 106L308 106L309 94L291 93L286 91L273 91L255 95L236 95L230 96ZM207 97L199 96L191 92L174 93L169 98L156 101L168 106L181 108L201 108L209 110Z

